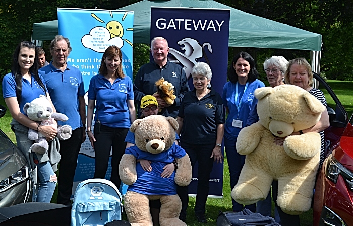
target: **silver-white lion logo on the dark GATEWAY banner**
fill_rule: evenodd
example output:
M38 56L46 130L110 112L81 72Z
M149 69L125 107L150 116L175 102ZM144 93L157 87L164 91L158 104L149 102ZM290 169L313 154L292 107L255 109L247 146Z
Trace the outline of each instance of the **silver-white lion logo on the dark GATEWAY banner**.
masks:
M171 54L172 56L169 55L170 57L168 57L168 59L170 62L181 63L184 66L183 69L185 70L187 79L189 79L191 75L191 69L197 63L197 59L205 57L207 64L210 64L204 51L204 47L207 46L208 51L213 54L210 43L205 42L201 46L200 43L195 39L184 38L183 40L178 42L178 45L184 45L184 47L180 47L180 49L185 50L185 52L182 53L173 48L170 48L169 54Z

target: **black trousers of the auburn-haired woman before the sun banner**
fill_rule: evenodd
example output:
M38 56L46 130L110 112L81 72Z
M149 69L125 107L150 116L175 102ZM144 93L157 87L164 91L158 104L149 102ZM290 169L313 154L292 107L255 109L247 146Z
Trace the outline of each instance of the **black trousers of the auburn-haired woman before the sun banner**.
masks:
M108 169L110 149L111 145L113 145L110 181L113 182L117 188L120 187L120 183L122 182L119 176L119 164L125 153L125 138L128 131L128 128L112 128L101 125L100 133L94 134L96 139L94 143L96 160L94 178L105 177L105 173Z

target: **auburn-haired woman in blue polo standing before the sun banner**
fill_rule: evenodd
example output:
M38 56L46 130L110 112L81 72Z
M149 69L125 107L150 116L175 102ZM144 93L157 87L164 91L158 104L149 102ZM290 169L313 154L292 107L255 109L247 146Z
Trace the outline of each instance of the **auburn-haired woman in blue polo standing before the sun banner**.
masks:
M123 73L122 57L119 47L109 46L105 50L99 74L92 77L89 84L87 107L87 135L96 161L94 178L105 177L113 146L110 181L118 188L121 183L118 170L125 153L125 137L136 119L133 84L130 77ZM92 133L94 108L96 122Z

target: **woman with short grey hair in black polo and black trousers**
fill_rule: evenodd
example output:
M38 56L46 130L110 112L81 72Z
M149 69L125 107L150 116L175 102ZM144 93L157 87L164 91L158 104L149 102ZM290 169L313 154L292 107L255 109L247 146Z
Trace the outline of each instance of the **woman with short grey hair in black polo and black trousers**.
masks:
M178 114L180 146L190 157L191 166L198 161L198 181L195 216L200 223L207 223L205 205L209 191L213 161L222 163L222 140L224 133L224 106L221 96L208 85L212 71L208 64L199 62L191 70L194 90L185 94ZM185 222L189 202L188 187L178 186L182 200L179 219Z

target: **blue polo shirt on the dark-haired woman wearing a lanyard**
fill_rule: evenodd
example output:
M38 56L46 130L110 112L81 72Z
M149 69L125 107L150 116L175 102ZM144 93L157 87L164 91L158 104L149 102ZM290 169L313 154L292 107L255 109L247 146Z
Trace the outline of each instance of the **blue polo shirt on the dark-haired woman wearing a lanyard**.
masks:
M242 101L239 110L239 120L243 121L242 128L245 127L246 121L249 117L249 113L251 110L251 105L253 100L255 99L254 92L257 88L265 87L265 84L260 80L255 80L254 82L249 83L247 89L244 92L246 85L238 84L238 101ZM225 129L224 129L224 137L229 140L235 141L238 137L238 134L241 128L232 126L233 119L237 119L238 108L235 102L236 97L236 83L227 82L223 87L223 103L224 107L228 107L229 113L228 117L225 120Z

